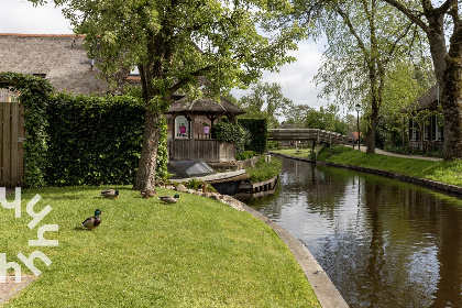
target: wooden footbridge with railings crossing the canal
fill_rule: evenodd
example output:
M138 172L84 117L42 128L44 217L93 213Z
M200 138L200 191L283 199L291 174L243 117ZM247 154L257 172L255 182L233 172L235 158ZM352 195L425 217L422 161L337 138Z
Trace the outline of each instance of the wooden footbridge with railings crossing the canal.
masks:
M318 129L268 129L268 140L271 141L311 141L312 151L318 157L318 146L321 144L354 144L355 140L336 132Z

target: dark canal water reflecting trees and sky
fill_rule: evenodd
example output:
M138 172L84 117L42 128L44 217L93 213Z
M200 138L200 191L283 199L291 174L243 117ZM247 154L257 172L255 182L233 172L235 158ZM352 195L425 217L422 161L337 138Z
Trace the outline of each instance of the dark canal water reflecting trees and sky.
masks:
M462 307L462 200L283 158L249 206L302 241L350 307Z

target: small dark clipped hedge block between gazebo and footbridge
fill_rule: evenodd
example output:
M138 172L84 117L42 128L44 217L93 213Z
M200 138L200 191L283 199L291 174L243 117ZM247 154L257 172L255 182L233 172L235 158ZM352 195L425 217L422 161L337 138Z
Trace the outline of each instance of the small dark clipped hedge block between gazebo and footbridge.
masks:
M267 120L266 119L238 119L238 123L249 132L245 138L244 148L263 154L267 148Z

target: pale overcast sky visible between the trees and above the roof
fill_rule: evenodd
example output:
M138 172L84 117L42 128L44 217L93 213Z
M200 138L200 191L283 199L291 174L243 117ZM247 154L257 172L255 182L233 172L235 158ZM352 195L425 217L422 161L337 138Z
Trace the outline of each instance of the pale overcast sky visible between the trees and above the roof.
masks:
M62 15L61 9L53 4L34 8L25 0L0 0L0 32L23 34L70 34L69 23ZM319 100L319 88L312 82L321 59L321 44L301 42L298 52L293 53L297 62L282 67L279 74L264 73L263 80L278 82L283 94L295 103L307 103L319 109L326 100ZM4 61L4 59L2 59ZM234 90L240 98L245 91Z

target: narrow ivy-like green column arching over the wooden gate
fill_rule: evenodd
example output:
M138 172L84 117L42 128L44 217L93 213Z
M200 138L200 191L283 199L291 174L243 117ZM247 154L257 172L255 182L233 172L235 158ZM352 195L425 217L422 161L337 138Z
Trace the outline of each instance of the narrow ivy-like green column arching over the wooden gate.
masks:
M28 135L23 144L24 186L43 186L48 150L46 107L53 87L43 78L7 72L0 73L0 88L19 92L21 103L26 107L24 125Z

